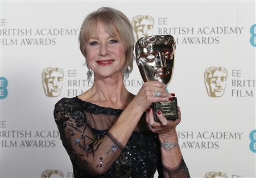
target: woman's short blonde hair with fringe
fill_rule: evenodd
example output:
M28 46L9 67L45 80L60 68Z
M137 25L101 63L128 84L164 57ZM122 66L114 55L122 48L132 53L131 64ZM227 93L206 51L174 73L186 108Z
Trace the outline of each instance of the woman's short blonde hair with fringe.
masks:
M125 66L123 66L122 71L126 69L129 69L130 71L133 70L133 49L135 44L133 27L131 27L129 19L122 12L110 7L101 7L97 11L90 13L82 23L79 34L79 44L85 60L85 44L93 32L96 31L97 23L99 22L105 26L109 35L118 35L122 44L125 46L126 63Z

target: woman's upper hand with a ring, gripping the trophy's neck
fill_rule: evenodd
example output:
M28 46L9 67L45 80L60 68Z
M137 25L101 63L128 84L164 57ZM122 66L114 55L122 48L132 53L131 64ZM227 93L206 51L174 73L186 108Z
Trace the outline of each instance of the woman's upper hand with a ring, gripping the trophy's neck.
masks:
M160 96L154 96L154 92L159 91ZM172 95L166 91L166 85L158 81L145 82L141 90L134 97L133 103L135 103L141 112L145 112L152 103L168 101L172 98Z

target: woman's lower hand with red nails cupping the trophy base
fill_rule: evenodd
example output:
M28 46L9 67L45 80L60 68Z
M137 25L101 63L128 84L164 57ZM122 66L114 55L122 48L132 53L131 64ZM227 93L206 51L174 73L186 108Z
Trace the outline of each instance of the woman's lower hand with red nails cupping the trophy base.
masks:
M175 128L181 121L181 112L179 107L178 107L178 111L179 111L179 118L177 118L174 121L167 120L166 117L163 116L163 113L161 111L156 111L156 116L159 118L160 122L155 122L152 109L148 108L147 114L146 114L146 122L148 124L148 128L152 132L158 133L158 135L162 135L162 136L175 134L176 132Z

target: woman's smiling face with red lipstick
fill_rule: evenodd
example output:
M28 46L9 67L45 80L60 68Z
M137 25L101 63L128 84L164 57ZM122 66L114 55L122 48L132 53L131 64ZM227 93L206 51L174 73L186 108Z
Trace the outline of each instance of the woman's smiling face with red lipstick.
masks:
M125 46L117 36L110 36L105 27L97 24L96 32L89 37L86 45L86 60L94 71L94 77L119 75L126 62Z

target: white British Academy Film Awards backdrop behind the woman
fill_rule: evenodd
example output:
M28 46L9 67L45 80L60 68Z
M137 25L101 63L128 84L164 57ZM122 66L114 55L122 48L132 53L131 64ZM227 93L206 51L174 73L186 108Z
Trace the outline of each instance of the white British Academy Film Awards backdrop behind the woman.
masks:
M174 36L168 90L191 177L255 177L255 1L1 2L0 177L73 177L53 108L92 86L78 35L104 6L126 14L137 39ZM125 86L137 94L142 84L134 62Z

